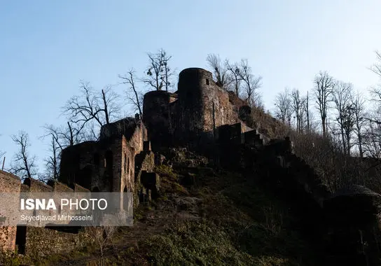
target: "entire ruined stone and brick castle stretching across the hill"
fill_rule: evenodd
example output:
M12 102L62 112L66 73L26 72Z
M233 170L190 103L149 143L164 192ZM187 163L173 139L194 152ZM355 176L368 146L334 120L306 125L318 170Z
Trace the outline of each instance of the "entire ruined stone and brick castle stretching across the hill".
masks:
M289 138L271 140L249 127L253 125L249 123L251 108L216 85L209 71L184 69L176 92L147 92L143 104L142 118L137 115L104 125L99 141L65 148L57 182L47 186L27 179L21 183L18 177L0 172L0 192L131 192L139 204L159 193L154 167L160 164L162 148L187 147L206 155L216 166L260 172L279 196L293 195L306 230L318 238L328 235L326 246L339 244L342 261L366 265L379 257L381 195L361 186L330 193L314 169L293 154ZM78 243L79 234L25 227L6 232L4 248L14 250L17 245L25 253L34 252L31 243L35 241L41 253L69 250ZM71 239L71 244L61 239Z

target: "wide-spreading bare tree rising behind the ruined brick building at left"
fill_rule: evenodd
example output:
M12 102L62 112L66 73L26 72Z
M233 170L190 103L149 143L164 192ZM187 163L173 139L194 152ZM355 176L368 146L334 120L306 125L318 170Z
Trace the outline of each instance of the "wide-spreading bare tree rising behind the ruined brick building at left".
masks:
M113 92L111 85L95 92L89 83L81 82L80 89L81 94L69 99L63 113L69 118L69 125L76 125L78 132L88 130L88 136L95 135L97 138L95 125L102 127L109 124L111 118L116 118L120 111L118 94Z

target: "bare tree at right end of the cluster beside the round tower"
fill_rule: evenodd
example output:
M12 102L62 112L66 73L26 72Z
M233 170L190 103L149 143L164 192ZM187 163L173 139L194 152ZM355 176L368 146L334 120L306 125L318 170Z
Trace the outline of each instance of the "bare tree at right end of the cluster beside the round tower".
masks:
M244 83L244 92L246 101L251 105L258 105L261 97L257 90L261 87L261 76L254 76L251 67L247 59L242 59L240 63L240 78L242 83Z

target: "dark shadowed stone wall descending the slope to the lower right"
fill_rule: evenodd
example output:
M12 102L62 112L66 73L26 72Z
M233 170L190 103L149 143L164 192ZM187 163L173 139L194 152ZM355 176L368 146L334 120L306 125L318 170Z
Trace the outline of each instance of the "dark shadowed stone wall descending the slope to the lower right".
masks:
M251 141L244 143L253 145ZM330 262L379 265L381 195L363 186L330 193L314 169L292 153L289 138L272 140L260 151L250 151L257 153L252 156L257 158L252 169L263 172L265 183L282 200L292 202L303 232L324 248Z

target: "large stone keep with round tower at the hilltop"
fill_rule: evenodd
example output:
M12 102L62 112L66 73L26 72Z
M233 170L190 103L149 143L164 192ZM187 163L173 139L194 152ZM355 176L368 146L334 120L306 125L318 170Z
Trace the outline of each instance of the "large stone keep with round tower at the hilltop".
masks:
M244 131L251 130L244 124L251 111L246 102L216 85L212 73L200 68L179 73L176 93L147 92L143 110L153 151L162 146L200 146L200 141L210 144L221 125L241 123Z

